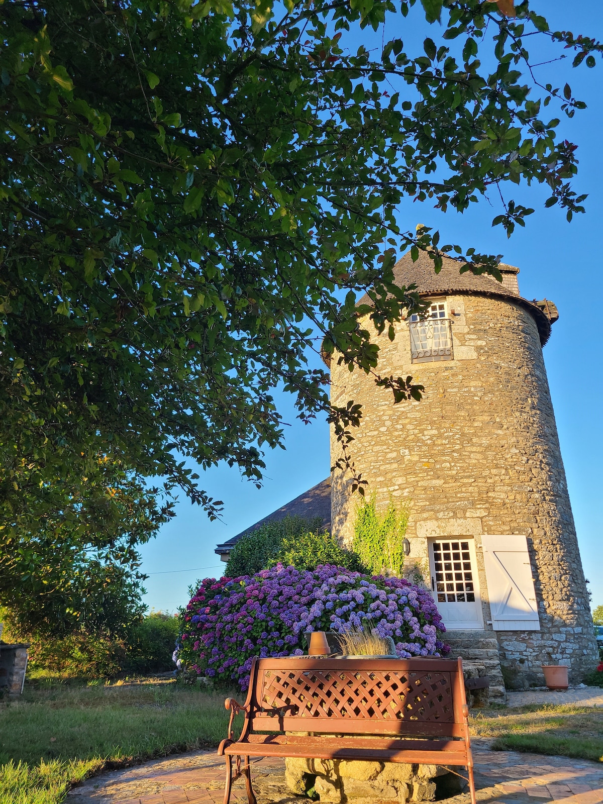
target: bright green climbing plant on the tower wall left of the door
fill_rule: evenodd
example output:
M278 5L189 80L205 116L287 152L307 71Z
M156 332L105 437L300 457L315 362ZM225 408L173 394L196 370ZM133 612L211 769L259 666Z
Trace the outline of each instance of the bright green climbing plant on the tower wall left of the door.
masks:
M363 499L356 509L352 547L360 561L373 575L393 572L400 576L404 568L402 543L408 527L407 505L396 509L392 499L383 514L376 508L376 495Z

